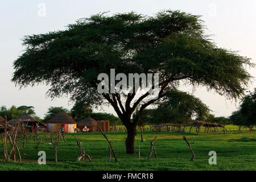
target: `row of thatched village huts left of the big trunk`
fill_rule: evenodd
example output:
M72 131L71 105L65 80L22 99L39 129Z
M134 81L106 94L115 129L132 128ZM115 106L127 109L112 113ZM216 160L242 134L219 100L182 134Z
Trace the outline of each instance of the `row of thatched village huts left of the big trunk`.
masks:
M48 132L48 133L82 133L82 132L100 132L101 127L102 131L110 131L109 121L96 121L95 119L88 117L82 119L81 121L75 121L67 113L61 112L54 115L49 119L46 124L38 121L31 115L24 113L18 119L13 119L8 121L7 125L9 127L21 126L23 129L26 129L28 132ZM5 127L5 119L0 116L0 130L3 130Z

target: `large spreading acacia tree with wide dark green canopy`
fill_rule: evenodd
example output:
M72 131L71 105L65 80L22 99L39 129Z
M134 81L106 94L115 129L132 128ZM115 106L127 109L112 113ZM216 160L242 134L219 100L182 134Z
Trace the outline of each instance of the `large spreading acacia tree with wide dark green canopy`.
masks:
M13 81L20 86L44 83L51 97L69 94L88 106L110 104L127 129L126 152L134 154L140 114L161 102L182 81L237 98L250 80L250 59L218 48L204 33L200 16L162 11L154 16L97 14L67 30L26 36L24 52L14 61ZM228 34L228 32L227 32ZM99 94L100 73L159 73L158 100L150 93ZM138 96L139 93L139 96Z

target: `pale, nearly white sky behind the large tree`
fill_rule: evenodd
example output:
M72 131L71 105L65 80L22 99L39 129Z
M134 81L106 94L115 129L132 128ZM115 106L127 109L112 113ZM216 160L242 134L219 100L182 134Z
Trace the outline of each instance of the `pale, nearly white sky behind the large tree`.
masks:
M44 6L46 11L43 9ZM14 72L13 61L24 49L21 39L25 35L64 30L65 26L79 18L86 18L104 11L109 11L109 15L130 11L153 15L164 9L183 10L201 15L205 26L208 27L208 34L213 34L212 39L219 47L240 51L240 55L250 57L256 63L255 0L1 1L0 106L34 106L40 117L44 116L50 106L64 106L68 109L72 107L68 98L58 98L53 101L46 98L47 88L44 85L19 90L10 81ZM250 69L249 72L256 77L255 68ZM253 84L248 89L253 90L255 87L254 78ZM192 88L183 86L182 89L192 93ZM229 116L239 105L238 102L226 100L225 97L218 96L214 92L207 92L205 88L197 88L194 94L201 98L217 116ZM108 107L104 107L101 111L115 114L114 110Z

